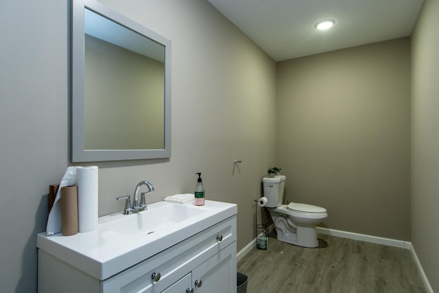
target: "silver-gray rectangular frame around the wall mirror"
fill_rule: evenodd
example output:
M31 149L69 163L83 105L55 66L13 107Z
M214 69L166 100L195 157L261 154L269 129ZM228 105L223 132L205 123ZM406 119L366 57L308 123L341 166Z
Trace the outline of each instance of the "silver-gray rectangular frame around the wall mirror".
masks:
M171 41L95 0L71 1L71 161L122 161L171 157ZM92 10L165 47L165 135L158 150L85 150L84 148L84 10ZM140 134L139 134L140 135Z

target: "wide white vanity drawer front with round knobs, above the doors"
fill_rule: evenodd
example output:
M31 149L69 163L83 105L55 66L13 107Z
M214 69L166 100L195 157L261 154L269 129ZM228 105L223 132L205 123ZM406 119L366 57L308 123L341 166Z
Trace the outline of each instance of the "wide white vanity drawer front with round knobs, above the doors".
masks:
M235 241L236 215L103 281L102 290L161 292ZM154 281L153 274L160 279Z

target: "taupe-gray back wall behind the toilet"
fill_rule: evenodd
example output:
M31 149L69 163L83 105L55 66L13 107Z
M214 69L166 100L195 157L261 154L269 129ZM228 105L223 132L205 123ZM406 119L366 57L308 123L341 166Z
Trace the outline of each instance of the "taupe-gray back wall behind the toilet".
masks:
M410 39L278 63L285 197L322 226L410 239Z

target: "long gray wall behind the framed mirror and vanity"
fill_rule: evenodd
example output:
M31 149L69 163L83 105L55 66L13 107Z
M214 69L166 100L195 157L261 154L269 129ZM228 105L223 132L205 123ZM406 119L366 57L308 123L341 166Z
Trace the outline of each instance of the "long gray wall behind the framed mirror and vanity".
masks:
M48 185L69 165L66 2L0 4L1 292L36 292ZM99 215L121 210L115 198L140 180L154 183L156 202L192 192L202 172L208 199L238 204L243 248L275 159L275 62L206 1L102 2L172 41L172 157L97 163Z

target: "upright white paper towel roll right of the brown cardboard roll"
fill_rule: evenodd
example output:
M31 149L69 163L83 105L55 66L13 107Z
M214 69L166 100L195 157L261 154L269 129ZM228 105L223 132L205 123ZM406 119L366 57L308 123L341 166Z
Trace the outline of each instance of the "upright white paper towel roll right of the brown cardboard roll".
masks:
M80 232L97 229L97 166L76 167L78 227Z

